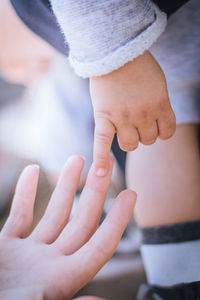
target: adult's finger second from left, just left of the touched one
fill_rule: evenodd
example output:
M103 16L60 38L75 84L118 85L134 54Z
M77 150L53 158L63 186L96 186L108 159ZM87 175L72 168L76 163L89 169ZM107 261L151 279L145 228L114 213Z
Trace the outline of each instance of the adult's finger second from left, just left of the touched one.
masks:
M66 225L79 184L84 159L71 156L64 166L44 216L32 233L32 237L50 244Z

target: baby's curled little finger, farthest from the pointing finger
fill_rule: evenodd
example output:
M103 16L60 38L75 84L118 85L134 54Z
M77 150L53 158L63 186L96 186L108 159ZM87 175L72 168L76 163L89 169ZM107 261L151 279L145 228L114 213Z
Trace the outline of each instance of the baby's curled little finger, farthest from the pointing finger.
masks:
M166 109L166 111L162 111L158 118L158 130L159 130L159 137L162 140L169 139L176 130L176 117L171 109Z

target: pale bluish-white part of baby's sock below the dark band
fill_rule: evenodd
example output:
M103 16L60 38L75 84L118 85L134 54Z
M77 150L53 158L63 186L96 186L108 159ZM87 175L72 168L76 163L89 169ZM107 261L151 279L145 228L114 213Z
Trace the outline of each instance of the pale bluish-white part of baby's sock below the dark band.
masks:
M172 286L200 281L200 240L144 244L141 252L148 282L152 285Z

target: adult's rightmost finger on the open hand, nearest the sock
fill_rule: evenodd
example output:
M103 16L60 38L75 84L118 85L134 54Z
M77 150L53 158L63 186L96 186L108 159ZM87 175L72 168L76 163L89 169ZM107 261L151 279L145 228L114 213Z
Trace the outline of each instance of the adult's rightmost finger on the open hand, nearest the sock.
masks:
M74 276L79 276L81 284L91 280L113 255L132 216L135 201L134 192L126 190L120 193L99 229L88 243L72 255L71 259L78 265Z

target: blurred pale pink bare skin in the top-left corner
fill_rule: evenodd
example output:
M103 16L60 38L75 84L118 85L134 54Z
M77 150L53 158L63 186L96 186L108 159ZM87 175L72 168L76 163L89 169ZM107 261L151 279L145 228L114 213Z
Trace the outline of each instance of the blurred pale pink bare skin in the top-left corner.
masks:
M55 50L34 34L9 0L0 1L0 73L12 82L28 84L44 75Z

